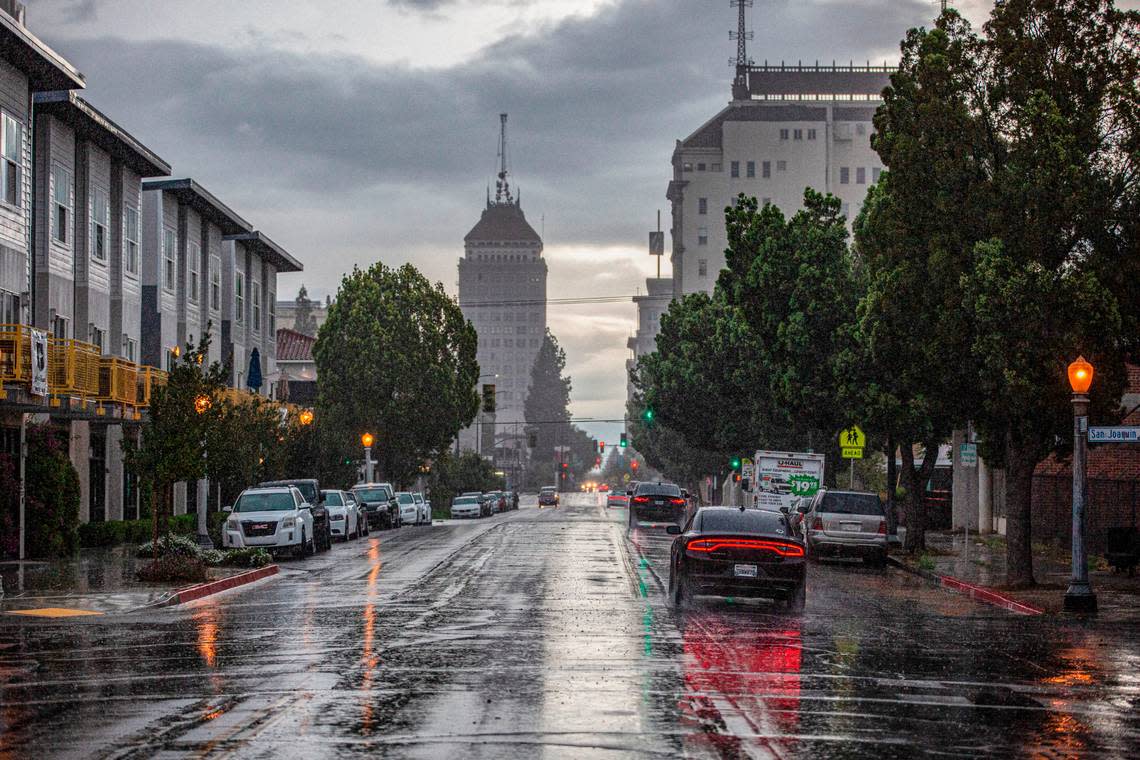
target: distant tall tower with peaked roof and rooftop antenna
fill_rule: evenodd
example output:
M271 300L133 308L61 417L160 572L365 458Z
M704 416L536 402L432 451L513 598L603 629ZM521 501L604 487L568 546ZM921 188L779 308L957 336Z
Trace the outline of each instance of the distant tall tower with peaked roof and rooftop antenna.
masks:
M546 333L546 261L543 238L507 179L506 114L499 120L495 195L488 189L487 207L463 238L459 260L459 307L479 333L479 382L495 385L497 409L480 412L461 433L461 444L495 456L510 471L524 464L523 403Z

